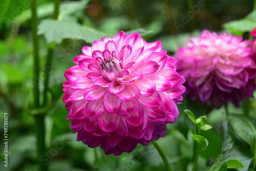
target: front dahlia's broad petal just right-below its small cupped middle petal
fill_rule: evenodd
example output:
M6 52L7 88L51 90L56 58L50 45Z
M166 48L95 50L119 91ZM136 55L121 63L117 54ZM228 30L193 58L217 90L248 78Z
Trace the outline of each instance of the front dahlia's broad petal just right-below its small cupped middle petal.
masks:
M139 89L132 85L132 84L125 84L125 88L122 93L117 94L121 100L130 101L134 99L140 98L140 91Z

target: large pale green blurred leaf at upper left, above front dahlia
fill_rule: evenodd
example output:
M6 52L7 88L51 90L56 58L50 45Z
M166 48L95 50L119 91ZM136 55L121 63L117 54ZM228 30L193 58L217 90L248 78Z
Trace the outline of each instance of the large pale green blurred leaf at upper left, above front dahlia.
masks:
M54 19L45 19L38 26L37 34L43 34L49 43L56 42L60 44L63 39L82 39L92 43L94 40L101 39L105 36L93 28L81 26L73 22L57 21Z

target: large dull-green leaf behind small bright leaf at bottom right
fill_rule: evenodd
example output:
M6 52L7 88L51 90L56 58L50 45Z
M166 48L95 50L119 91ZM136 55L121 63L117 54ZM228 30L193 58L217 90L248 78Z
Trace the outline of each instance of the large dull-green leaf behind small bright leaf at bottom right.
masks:
M232 136L228 130L227 122L224 122L222 124L221 144L221 153L219 154L219 157L216 159L215 163L211 166L210 170L218 170L227 160L236 159L239 160L240 163L244 166L239 170L247 171L253 157L250 154L246 153L244 149L232 139Z

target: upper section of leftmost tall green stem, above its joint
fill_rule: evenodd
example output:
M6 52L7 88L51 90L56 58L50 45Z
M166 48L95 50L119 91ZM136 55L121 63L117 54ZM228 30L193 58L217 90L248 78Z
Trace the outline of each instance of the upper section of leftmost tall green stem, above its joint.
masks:
M38 55L38 36L37 36L37 13L36 0L31 1L32 11L32 37L33 37L33 57L34 57L34 107L38 108L39 103L39 55Z

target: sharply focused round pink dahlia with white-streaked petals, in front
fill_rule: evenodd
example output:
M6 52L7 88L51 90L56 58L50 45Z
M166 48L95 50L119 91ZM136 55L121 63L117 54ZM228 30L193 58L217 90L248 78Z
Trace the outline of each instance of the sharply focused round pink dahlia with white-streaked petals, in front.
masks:
M131 152L165 136L178 116L184 77L161 42L123 31L84 46L65 72L63 101L77 140L105 154Z

